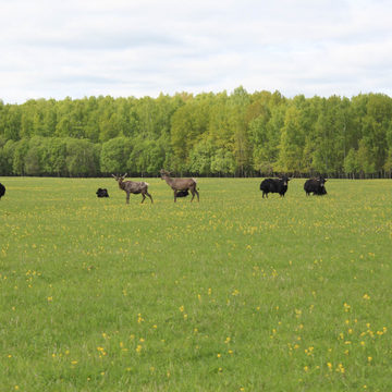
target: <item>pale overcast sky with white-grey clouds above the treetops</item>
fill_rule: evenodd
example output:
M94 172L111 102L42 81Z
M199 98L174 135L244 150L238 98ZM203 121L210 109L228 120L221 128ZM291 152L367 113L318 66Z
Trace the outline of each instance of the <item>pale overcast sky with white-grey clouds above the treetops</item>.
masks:
M390 0L0 0L0 99L392 96Z

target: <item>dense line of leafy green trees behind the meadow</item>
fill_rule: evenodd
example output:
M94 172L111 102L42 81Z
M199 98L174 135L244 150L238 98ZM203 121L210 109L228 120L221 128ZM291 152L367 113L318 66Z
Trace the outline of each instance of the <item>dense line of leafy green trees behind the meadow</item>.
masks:
M0 100L0 175L391 176L392 98L279 91Z

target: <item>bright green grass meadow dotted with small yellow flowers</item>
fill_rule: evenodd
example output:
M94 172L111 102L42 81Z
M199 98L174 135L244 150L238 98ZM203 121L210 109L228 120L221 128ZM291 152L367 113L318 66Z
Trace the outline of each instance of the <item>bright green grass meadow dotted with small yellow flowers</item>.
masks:
M0 180L1 392L392 390L391 181Z

